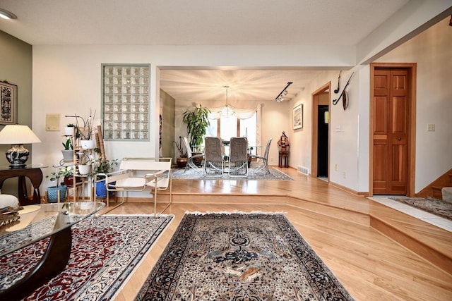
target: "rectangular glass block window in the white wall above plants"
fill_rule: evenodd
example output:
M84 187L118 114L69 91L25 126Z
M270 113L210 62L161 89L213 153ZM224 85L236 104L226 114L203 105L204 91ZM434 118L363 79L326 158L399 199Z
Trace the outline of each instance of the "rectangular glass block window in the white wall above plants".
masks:
M104 140L149 141L149 104L149 64L102 64Z

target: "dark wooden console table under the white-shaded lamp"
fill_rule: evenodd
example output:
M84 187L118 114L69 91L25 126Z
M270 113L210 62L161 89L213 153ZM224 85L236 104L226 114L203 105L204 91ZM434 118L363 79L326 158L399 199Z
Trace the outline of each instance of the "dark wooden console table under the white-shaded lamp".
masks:
M42 171L41 168L47 166L42 165L27 165L23 168L11 168L9 166L0 166L0 190L3 187L4 180L8 178L18 177L18 199L20 205L40 204L40 185L42 183ZM27 185L25 183L25 177L31 180L33 185L33 197L30 199L27 193Z

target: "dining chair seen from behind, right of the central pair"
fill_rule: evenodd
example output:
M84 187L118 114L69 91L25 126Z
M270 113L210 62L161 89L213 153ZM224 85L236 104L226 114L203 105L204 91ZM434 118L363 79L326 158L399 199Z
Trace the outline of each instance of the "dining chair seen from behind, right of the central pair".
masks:
M248 176L248 140L246 137L232 137L229 154L229 176Z

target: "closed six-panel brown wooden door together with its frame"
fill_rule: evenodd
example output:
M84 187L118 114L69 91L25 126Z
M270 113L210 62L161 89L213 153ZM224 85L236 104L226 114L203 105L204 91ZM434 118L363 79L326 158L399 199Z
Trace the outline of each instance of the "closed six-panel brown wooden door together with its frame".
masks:
M371 195L414 195L415 63L372 63Z

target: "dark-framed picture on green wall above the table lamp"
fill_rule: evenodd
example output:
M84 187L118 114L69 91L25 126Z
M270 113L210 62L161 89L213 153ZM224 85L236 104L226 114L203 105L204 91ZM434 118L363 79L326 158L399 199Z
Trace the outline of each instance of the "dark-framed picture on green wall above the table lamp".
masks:
M0 124L17 123L17 86L0 82Z

